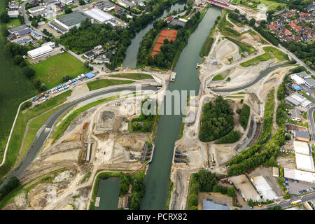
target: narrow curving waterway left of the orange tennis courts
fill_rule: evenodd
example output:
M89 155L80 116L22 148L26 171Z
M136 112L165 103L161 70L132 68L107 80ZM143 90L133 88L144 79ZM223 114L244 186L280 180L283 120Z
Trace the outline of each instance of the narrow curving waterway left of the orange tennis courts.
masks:
M173 6L171 6L171 8L165 9L163 14L160 17L156 18L153 22L167 16L167 13L170 13L173 10L182 10L184 6L184 2L174 4ZM139 33L137 33L134 38L132 38L132 43L129 45L126 51L126 57L123 61L123 67L128 67L130 69L134 69L136 67L137 52L139 49L140 41L142 40L144 35L153 27L153 22L150 22L144 29L141 29L141 31L139 31Z

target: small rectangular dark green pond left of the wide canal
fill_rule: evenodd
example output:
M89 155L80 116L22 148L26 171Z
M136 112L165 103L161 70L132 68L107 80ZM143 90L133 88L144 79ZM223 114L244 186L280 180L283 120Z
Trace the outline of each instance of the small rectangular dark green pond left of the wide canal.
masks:
M112 177L106 180L99 179L97 197L101 197L101 200L99 201L99 207L95 207L95 210L117 210L119 183L120 179L118 177Z

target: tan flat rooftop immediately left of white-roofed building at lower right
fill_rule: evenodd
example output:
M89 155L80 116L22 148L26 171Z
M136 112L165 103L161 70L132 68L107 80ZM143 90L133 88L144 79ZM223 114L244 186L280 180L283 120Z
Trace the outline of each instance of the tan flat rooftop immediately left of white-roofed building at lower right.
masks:
M248 200L253 200L253 202L260 200L260 196L244 174L232 176L229 178L229 180L232 181L235 188L239 191L239 194L246 202L248 202Z

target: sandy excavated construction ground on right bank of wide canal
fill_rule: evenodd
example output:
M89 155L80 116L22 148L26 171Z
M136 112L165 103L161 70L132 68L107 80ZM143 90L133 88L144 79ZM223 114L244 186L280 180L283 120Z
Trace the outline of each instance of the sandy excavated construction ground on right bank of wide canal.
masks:
M237 25L232 28L241 29ZM281 66L283 64L276 57L253 63L251 66L241 66L241 63L264 54L265 50L262 48L270 46L265 39L254 32L245 32L237 37L237 41L255 48L255 52L251 55L247 53L241 55L239 45L225 38L218 28L214 38L209 55L196 67L200 69L202 92L199 96L190 98L187 109L188 114L195 115L194 120L190 119L185 123L183 136L175 144L170 174L174 188L169 209L187 208L191 174L200 169L207 169L217 175L226 175L228 174L226 162L258 141L262 132L267 94L272 88L275 88L276 92L283 77L294 67L294 64ZM216 76L219 78L214 78ZM202 108L204 104L213 101L218 94L228 99L234 113L234 130L241 135L233 144L214 144L214 141L204 143L199 139ZM251 109L246 130L241 127L239 115L236 113L242 108L242 104L247 104ZM276 101L277 104L279 102ZM272 132L277 129L275 120L273 123ZM238 193L237 198L241 200Z

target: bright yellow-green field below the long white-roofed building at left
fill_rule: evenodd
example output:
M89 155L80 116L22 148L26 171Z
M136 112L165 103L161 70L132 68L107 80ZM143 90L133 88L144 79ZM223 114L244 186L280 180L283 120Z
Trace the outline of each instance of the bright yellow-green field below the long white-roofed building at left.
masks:
M38 78L41 83L45 83L48 89L63 83L63 76L68 75L71 78L76 78L81 73L90 71L90 69L84 67L83 62L80 62L68 52L52 56L30 67L35 70L35 79Z

